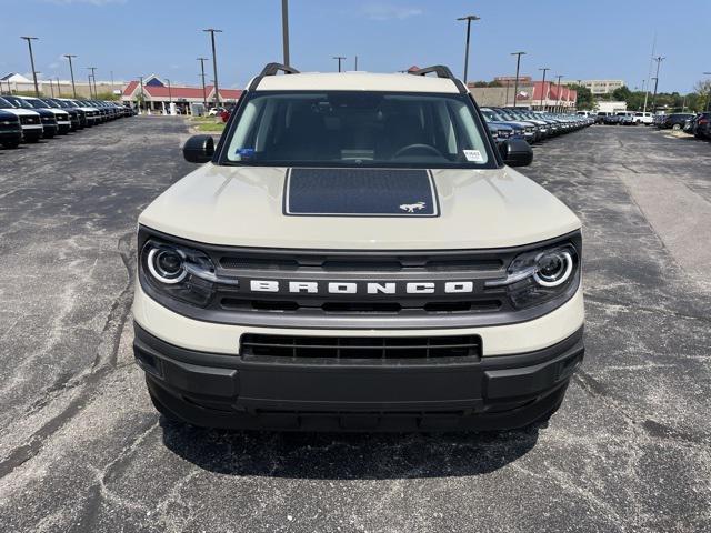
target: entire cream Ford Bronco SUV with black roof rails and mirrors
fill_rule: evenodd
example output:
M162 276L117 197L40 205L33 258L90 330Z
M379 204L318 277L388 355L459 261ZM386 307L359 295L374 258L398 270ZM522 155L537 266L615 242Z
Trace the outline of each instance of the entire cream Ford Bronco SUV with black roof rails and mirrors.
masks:
M580 221L447 67L415 74L270 63L217 147L187 141L206 164L138 231L134 354L163 415L429 431L558 409L583 358Z

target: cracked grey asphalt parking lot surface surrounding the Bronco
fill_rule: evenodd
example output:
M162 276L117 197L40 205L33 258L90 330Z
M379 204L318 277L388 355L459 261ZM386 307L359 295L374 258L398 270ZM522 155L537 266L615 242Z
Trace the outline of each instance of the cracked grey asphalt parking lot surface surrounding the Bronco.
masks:
M0 530L711 530L711 145L592 127L523 172L583 220L587 355L488 434L173 425L133 364L136 219L194 167L179 118L0 151Z

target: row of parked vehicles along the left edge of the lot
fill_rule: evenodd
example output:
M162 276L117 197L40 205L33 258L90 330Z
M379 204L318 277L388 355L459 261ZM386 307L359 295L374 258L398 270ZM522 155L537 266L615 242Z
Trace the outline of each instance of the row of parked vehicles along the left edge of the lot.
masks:
M17 148L132 114L131 108L102 100L1 94L0 144Z

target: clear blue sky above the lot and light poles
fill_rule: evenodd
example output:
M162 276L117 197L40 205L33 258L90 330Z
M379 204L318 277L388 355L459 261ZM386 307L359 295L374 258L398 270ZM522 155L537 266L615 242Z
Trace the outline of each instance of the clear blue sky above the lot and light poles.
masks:
M40 38L33 46L41 77L68 79L61 54L76 53L83 78L96 66L100 80L111 71L117 80L156 72L198 84L196 58L210 57L200 30L214 27L223 30L220 84L241 88L266 62L282 59L280 9L280 0L0 0L0 73L30 72L19 36L32 34ZM641 88L655 32L657 52L667 57L660 91L690 91L711 71L697 23L711 20L711 0L290 0L291 62L329 71L332 56L346 56L352 69L358 54L361 70L444 63L461 76L464 23L455 19L469 13L482 19L472 23L470 80L513 74L510 52L524 50L522 74L538 78L539 67L550 67L549 77Z

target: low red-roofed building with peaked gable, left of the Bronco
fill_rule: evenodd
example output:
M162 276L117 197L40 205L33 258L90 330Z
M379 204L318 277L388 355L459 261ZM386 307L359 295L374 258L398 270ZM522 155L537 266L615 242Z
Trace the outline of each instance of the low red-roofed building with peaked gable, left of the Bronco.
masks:
M239 89L220 88L220 103L234 104L242 94ZM139 80L130 81L123 89L121 101L140 105L144 102L143 109L166 112L171 103L184 109L192 109L193 104L206 104L208 107L216 103L214 86L202 87L173 86L156 74L143 79L143 84Z

